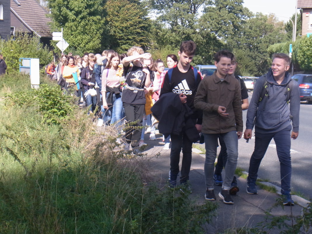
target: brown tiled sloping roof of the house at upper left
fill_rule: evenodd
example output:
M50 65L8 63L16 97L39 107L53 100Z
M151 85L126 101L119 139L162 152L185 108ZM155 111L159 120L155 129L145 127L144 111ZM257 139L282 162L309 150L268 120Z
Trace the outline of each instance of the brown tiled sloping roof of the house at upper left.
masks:
M11 0L11 12L38 37L52 37L48 12L36 0Z

